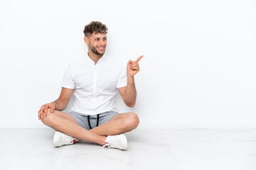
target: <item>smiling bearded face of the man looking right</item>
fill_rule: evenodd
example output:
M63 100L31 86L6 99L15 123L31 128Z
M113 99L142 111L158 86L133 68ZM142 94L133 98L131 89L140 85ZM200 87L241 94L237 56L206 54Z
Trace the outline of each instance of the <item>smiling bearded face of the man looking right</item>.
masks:
M87 45L95 55L104 55L107 46L107 35L105 33L93 33L88 38Z

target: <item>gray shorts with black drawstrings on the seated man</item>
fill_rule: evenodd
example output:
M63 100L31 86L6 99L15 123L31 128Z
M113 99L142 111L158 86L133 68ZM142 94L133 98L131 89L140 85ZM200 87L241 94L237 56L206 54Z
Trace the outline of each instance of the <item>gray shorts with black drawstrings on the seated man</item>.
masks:
M72 115L72 117L77 121L78 125L80 125L82 128L90 130L96 128L98 125L102 125L103 123L110 121L110 119L118 113L115 111L107 111L97 115L85 115L72 111L68 114Z

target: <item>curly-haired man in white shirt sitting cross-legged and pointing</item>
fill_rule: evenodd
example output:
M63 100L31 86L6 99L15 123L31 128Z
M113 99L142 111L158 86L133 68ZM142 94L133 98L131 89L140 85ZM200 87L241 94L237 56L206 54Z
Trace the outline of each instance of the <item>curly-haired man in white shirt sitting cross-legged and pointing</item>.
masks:
M124 103L134 107L137 96L134 75L139 72L138 62L143 56L134 62L129 60L125 69L104 55L107 45L104 24L92 21L83 32L88 54L68 66L59 98L41 106L38 119L57 131L53 137L55 147L85 140L103 147L127 149L123 133L137 128L139 118L136 113L115 112L114 96L118 89ZM72 111L61 112L73 93Z

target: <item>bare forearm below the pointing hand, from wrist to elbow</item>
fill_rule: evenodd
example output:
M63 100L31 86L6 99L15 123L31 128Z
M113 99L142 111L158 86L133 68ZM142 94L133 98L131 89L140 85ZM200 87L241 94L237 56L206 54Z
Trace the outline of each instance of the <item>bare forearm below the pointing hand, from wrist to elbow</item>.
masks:
M124 103L129 107L134 107L136 103L137 91L134 77L127 75L127 90L124 96Z

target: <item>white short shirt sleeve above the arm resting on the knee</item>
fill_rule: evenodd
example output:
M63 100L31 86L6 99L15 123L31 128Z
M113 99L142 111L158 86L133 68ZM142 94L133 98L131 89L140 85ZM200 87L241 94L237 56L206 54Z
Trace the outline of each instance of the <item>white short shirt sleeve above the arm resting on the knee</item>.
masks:
M75 81L73 77L73 69L71 64L69 64L68 68L65 70L61 86L67 89L75 89Z

